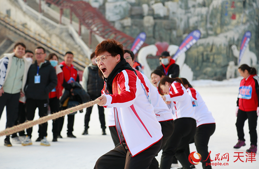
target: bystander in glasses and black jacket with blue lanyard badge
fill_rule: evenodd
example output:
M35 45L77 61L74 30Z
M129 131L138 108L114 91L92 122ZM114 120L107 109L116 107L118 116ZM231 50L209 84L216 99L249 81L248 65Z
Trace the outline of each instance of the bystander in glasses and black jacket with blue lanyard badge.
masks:
M35 49L36 61L30 66L27 76L26 86L24 88L26 100L26 119L33 120L35 110L39 108L39 117L47 116L48 94L57 85L57 75L55 68L50 62L45 60L46 52L43 47ZM32 127L27 128L27 139L22 145L32 145L31 134ZM39 125L40 145L50 146L47 141L47 123Z

